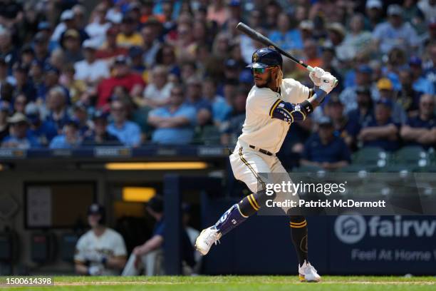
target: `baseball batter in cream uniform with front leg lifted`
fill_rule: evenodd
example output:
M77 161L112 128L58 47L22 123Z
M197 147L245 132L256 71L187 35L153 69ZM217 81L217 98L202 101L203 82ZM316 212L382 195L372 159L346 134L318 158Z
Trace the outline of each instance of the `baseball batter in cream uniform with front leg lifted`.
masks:
M309 74L314 88L303 86L291 78L283 79L282 63L281 54L274 48L259 48L253 53L248 67L254 75L255 86L246 99L242 134L229 157L235 178L242 180L252 194L234 204L215 225L200 233L195 247L202 255L206 255L212 244L223 235L254 215L266 200L271 200L265 189L269 181L259 173L281 173L281 177L291 180L276 157L289 125L294 121L304 121L334 88L336 78L318 67ZM284 198L283 195L274 193L272 198L279 200ZM289 208L283 210L286 213ZM301 215L291 215L290 226L299 258L299 279L302 282L318 282L321 277L308 262L306 219Z

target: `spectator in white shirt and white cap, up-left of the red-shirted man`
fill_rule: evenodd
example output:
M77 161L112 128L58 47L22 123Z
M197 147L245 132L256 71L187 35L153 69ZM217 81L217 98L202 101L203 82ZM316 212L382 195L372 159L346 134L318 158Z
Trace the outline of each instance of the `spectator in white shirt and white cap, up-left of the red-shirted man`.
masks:
M84 81L88 88L94 88L103 78L110 76L108 63L95 57L97 48L98 44L93 40L87 39L83 41L85 59L74 64L74 69L76 70L74 78Z

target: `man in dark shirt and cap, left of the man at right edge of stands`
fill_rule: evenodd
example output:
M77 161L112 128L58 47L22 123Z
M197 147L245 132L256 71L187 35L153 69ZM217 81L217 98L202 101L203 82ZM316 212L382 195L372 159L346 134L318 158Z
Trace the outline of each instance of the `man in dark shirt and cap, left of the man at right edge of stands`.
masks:
M363 147L375 146L384 150L394 151L400 148L400 124L392 118L393 102L380 98L375 105L374 119L364 123L358 141Z

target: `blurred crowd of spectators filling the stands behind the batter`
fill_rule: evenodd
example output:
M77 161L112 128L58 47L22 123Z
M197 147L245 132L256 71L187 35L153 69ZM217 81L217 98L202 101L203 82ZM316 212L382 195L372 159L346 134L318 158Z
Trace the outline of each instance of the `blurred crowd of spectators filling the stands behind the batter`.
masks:
M436 145L435 0L0 3L2 148L233 145L261 46L239 21L339 80L291 126L303 163ZM313 86L286 58L284 78Z

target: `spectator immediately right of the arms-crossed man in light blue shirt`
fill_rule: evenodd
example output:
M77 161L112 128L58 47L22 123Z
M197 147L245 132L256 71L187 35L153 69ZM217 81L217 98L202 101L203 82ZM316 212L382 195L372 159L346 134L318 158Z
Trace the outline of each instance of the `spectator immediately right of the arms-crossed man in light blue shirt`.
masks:
M197 112L197 125L204 126L212 121L212 105L202 96L202 82L199 78L191 77L187 80L185 103Z

